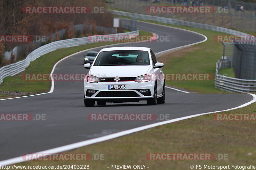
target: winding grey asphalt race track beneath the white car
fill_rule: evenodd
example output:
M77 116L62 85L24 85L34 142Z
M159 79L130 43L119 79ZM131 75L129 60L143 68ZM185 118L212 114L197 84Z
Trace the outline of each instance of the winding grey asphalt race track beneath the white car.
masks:
M122 20L128 24L130 21ZM137 26L159 36L171 36L171 42L141 42L131 46L150 47L155 53L198 41L201 35L137 22ZM120 45L113 45L120 46ZM129 46L129 44L122 44ZM96 48L93 51L99 51ZM86 74L83 56L73 55L60 62L54 73ZM1 121L0 160L21 156L25 153L72 144L147 125L157 121L89 121L90 113L150 113L170 114L171 119L199 113L225 110L252 100L249 94L196 94L178 93L166 88L165 104L147 106L146 101L137 103L107 103L106 106L84 107L83 81L55 81L53 93L31 97L0 100L0 114L45 114L45 121Z

